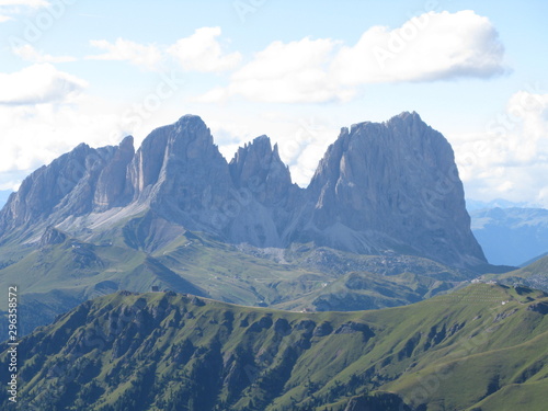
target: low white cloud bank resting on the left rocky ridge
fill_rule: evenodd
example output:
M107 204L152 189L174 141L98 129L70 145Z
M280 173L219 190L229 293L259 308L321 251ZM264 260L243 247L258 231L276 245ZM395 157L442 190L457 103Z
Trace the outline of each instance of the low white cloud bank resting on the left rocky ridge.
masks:
M87 95L70 104L0 105L0 185L16 186L80 142L119 144L119 118L114 104Z

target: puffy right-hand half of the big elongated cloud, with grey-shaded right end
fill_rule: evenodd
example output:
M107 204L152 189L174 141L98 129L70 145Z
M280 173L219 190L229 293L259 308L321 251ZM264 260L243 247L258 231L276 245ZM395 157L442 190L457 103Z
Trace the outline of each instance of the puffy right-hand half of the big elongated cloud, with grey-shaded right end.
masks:
M401 27L375 26L333 60L343 84L488 78L504 72L504 47L489 19L429 12Z

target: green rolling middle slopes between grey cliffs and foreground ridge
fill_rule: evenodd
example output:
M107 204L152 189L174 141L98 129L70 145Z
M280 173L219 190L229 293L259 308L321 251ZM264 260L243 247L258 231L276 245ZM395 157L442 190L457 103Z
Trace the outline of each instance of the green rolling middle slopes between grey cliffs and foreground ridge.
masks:
M49 229L36 247L0 247L0 286L15 284L22 296L21 331L121 289L158 287L293 310L359 310L415 302L471 277L415 256L357 255L307 244L255 249L189 231L149 252L128 226L124 237L106 236L98 243ZM5 304L0 301L0 310Z

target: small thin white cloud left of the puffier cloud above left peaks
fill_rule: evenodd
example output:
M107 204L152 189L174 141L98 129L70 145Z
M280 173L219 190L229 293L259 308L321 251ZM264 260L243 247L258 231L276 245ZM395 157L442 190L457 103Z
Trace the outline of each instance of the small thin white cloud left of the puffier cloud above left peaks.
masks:
M90 44L106 53L87 56L87 59L129 61L149 70L156 70L162 60L162 53L155 44L142 45L124 38L117 38L114 44L105 39L93 39Z

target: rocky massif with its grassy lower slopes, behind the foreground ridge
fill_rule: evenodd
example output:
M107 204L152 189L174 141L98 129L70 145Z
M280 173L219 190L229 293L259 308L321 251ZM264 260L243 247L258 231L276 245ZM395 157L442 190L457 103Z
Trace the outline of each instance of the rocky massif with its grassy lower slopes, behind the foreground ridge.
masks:
M306 189L269 137L228 162L185 115L137 150L130 136L79 145L0 210L0 285L24 290L24 332L121 289L349 310L415 302L492 270L453 150L416 113L343 128Z

